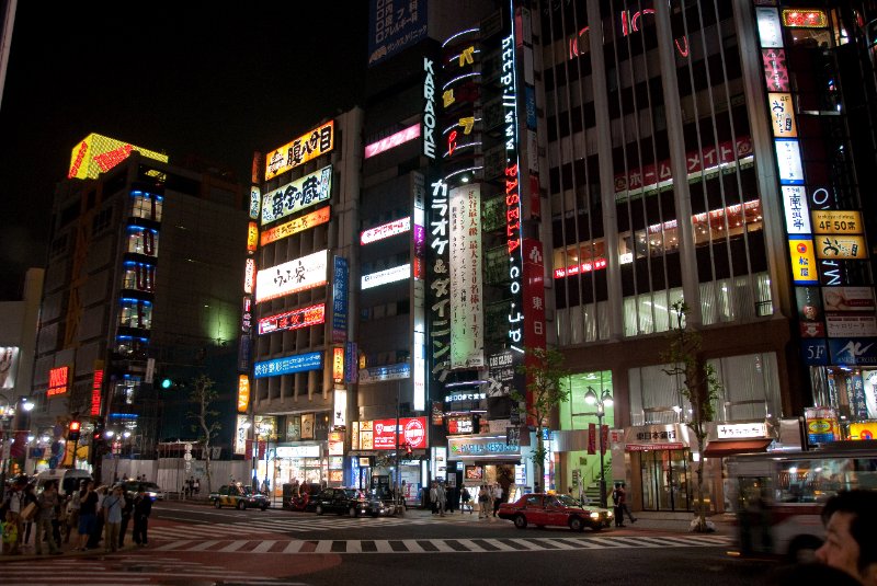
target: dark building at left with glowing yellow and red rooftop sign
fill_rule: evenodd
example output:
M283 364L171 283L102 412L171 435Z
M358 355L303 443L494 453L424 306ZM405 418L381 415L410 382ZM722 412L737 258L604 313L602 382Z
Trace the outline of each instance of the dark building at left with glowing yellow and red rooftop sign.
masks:
M217 406L235 398L242 192L226 173L167 161L90 135L55 194L32 420L53 436L59 422L82 422L79 461L155 458L162 440L191 437L200 375L215 382Z

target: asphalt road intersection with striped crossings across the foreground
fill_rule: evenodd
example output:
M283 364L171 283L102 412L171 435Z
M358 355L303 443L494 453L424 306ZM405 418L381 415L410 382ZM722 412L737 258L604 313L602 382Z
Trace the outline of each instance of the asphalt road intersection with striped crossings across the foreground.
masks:
M153 507L149 545L16 559L0 556L0 584L673 585L767 584L773 562L729 556L731 536L641 518L624 529L517 530L477 515L351 518L281 509Z

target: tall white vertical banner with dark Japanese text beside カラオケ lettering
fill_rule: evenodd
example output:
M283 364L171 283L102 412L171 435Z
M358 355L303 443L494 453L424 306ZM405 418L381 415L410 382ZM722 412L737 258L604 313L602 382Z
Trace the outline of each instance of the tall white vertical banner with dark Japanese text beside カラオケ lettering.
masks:
M451 368L485 366L481 187L451 189Z

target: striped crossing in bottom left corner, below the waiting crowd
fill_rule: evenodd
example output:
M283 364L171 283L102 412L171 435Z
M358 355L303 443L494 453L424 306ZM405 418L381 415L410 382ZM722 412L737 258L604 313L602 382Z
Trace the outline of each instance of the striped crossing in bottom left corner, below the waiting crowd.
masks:
M123 555L112 558L50 558L8 562L0 570L3 586L57 586L59 577L87 578L89 585L139 584L236 584L252 586L304 586L301 582L254 576L253 572L237 571L198 562L178 560L169 555ZM61 582L64 582L61 579Z

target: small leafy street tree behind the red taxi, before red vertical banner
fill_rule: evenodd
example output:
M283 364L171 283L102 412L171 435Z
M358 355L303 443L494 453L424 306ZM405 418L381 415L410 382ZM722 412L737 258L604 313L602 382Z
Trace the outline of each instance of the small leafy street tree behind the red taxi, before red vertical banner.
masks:
M517 390L512 391L512 399L524 403L524 413L527 421L536 423L536 449L533 451L533 463L536 478L545 476L544 466L547 450L543 440L543 429L548 425L548 418L560 403L569 400L570 389L560 384L560 379L567 378L569 372L563 368L563 355L553 348L525 348L524 364L517 371L526 376L527 397Z

